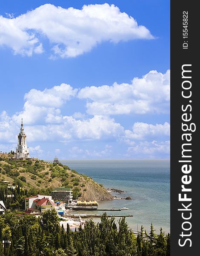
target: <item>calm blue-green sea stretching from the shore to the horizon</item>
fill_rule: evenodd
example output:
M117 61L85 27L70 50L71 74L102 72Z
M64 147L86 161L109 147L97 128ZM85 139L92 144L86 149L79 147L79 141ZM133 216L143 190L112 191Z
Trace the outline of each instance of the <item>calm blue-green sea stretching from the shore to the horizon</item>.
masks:
M109 215L134 215L126 222L134 232L141 225L147 232L151 222L160 233L170 232L170 160L169 159L106 159L106 160L60 160L61 163L80 174L91 177L105 188L120 189L122 194L112 193L117 198L130 196L131 200L117 199L100 201L100 209L129 208L122 211L106 211ZM73 211L74 212L74 211ZM78 211L100 214L100 211ZM74 213L78 213L74 212ZM116 222L119 217L116 217ZM100 221L94 218L94 221Z

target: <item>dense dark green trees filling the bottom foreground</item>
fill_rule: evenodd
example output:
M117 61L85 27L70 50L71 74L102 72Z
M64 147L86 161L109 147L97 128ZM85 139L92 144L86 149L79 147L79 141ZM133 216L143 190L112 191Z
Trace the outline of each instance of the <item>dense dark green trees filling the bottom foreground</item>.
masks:
M143 227L136 237L125 218L118 221L118 226L117 230L114 217L104 213L98 224L87 220L84 229L71 232L68 225L65 232L54 210L39 218L25 215L20 220L9 212L0 217L0 236L2 239L2 230L7 230L2 239L11 242L6 245L7 256L170 256L170 235L164 236L162 229L157 236L151 224L148 239L144 239Z

